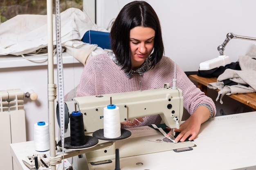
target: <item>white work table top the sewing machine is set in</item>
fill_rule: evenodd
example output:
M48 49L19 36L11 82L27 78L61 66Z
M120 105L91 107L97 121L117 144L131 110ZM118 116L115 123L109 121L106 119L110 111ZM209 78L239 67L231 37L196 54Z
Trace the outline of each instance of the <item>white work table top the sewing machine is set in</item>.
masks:
M123 141L125 143L125 140ZM256 169L256 111L211 118L202 124L193 141L193 150L173 150L124 157L121 170L252 170ZM11 144L11 154L20 169L28 170L22 159L36 153L33 142ZM134 150L140 146L134 146ZM90 170L114 170L112 163L92 166ZM136 163L143 163L138 166Z

